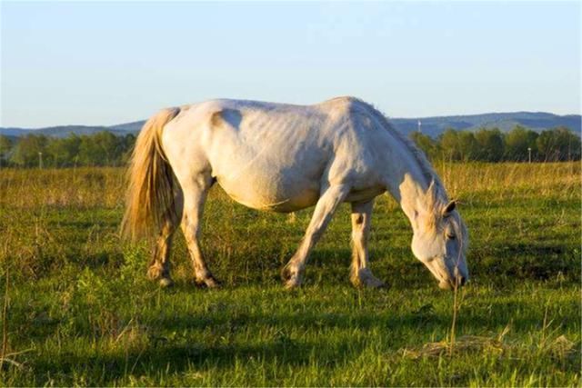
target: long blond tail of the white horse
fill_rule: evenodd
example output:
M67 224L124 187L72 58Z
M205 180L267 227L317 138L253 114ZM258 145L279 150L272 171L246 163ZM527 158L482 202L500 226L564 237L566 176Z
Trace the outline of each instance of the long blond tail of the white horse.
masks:
M127 176L125 215L121 233L137 238L157 233L176 220L174 172L161 144L164 126L180 112L168 108L147 120L135 141Z

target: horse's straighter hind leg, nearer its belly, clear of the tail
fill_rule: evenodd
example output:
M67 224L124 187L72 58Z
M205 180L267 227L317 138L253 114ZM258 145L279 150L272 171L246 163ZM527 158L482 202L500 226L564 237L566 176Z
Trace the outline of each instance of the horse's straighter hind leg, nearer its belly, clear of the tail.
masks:
M216 288L220 284L210 273L200 247L200 227L206 195L213 184L212 177L206 175L197 176L189 184L183 186L185 194L184 215L182 217L182 232L186 237L188 252L192 259L196 284Z

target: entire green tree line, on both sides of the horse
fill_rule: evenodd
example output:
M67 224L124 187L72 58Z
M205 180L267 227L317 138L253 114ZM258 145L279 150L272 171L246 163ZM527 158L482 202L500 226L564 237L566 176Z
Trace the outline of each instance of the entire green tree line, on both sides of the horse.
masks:
M477 132L447 129L437 139L410 134L431 160L457 162L558 162L580 160L580 137L566 127L538 134L517 125L507 134L498 129ZM74 167L117 166L127 163L135 134L116 136L110 132L50 137L27 134L19 138L0 135L0 166Z

